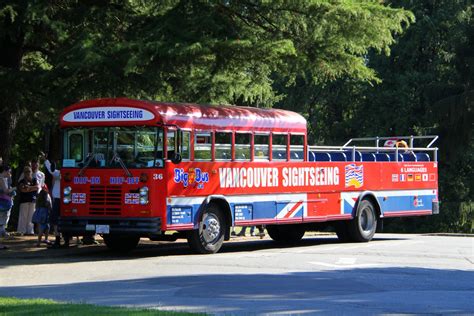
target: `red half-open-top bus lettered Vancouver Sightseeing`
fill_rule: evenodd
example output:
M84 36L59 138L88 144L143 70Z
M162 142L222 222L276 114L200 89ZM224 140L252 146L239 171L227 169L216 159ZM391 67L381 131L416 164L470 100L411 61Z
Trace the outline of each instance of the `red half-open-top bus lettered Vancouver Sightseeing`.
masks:
M60 230L115 250L187 238L215 253L250 225L277 242L328 225L364 242L383 218L438 213L436 136L308 146L294 112L126 98L69 106L61 128Z

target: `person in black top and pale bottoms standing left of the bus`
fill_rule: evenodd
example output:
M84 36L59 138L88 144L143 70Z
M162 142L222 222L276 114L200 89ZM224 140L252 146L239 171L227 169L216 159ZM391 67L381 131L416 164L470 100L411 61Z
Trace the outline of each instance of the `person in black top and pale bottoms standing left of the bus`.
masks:
M33 178L33 171L30 167L25 167L23 174L24 178L18 183L20 214L18 216L17 232L21 235L34 235L31 219L35 212L36 197L40 187L36 178Z

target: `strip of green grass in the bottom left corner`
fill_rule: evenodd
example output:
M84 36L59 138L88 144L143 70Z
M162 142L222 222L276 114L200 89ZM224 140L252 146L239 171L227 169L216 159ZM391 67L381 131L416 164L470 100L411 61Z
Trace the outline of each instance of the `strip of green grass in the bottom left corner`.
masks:
M62 303L47 299L0 297L0 315L202 315L152 309Z

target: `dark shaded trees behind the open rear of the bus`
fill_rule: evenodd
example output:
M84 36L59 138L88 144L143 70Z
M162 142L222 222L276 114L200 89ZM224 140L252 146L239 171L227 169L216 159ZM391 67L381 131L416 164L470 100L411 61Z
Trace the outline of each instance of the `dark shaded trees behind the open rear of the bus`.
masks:
M464 231L474 225L474 20L466 1L391 1L414 23L390 56L368 55L382 80L320 85L300 78L280 106L300 104L317 143L364 136L440 135L441 215L388 222L396 231Z

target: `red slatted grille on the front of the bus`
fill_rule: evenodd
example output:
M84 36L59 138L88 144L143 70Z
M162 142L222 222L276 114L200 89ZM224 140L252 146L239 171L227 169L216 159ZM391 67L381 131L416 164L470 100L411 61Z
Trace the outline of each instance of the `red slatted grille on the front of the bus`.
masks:
M122 188L120 186L91 185L89 214L120 215Z

